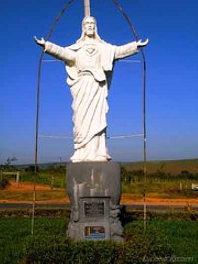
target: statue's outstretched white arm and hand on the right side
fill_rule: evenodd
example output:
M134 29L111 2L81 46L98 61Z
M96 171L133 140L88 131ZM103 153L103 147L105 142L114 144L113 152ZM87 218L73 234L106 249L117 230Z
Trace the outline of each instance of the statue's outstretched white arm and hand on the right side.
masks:
M148 39L145 42L142 40L134 41L122 46L116 46L115 48L115 59L125 58L135 53L138 53L138 48L145 47L148 44Z

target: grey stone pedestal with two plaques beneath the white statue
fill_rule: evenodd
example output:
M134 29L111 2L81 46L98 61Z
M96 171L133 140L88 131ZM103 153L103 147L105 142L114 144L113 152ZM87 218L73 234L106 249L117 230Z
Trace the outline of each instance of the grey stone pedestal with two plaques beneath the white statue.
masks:
M75 240L121 241L119 163L69 163L66 181L71 202L69 237Z

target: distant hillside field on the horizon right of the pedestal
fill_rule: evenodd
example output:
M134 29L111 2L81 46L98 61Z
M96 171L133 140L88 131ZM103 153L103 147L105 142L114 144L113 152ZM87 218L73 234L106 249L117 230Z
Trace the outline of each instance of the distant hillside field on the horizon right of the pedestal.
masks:
M127 170L138 170L143 168L143 162L122 162L122 166ZM157 170L163 170L165 173L173 175L187 170L190 173L198 173L198 159L184 159L184 160L156 160L147 162L148 173L154 173Z

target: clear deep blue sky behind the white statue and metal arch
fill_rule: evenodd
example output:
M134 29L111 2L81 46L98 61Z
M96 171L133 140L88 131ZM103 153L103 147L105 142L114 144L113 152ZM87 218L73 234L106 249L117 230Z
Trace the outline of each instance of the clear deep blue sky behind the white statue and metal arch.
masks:
M37 70L41 49L65 0L1 2L0 163L34 161ZM198 1L119 0L139 38L149 38L147 60L148 159L198 158ZM134 40L110 0L91 0L100 37L122 45ZM81 34L83 0L75 0L51 41L74 43ZM51 57L45 55L45 59ZM130 59L140 60L137 54ZM43 62L40 134L71 136L71 95L62 62ZM117 62L109 91L108 135L142 133L142 64ZM108 140L113 160L141 160L141 138ZM69 160L71 140L40 139L39 162Z

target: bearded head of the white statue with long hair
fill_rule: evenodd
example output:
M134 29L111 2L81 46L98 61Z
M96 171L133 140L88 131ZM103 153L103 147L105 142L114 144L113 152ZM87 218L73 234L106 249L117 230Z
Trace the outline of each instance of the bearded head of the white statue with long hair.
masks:
M99 42L103 42L98 35L97 22L93 16L84 17L82 21L82 35L76 43L84 41L86 36L94 38Z

